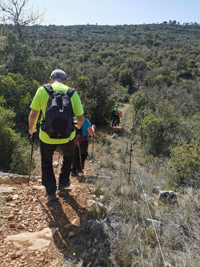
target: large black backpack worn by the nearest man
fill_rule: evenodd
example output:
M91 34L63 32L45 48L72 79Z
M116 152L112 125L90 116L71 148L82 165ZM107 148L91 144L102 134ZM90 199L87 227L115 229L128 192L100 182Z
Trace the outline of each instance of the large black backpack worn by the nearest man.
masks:
M69 138L74 128L74 112L71 104L71 96L75 89L69 87L66 93L54 92L50 83L43 84L49 94L47 101L45 118L43 120L41 130L46 132L52 139Z

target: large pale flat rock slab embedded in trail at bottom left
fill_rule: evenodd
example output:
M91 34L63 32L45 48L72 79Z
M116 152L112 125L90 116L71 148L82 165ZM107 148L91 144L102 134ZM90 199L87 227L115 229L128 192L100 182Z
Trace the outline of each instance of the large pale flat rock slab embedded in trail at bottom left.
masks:
M22 248L26 243L32 244L28 247L30 250L39 250L41 252L45 252L47 246L49 246L51 240L45 239L51 237L57 228L44 228L42 231L39 232L24 232L21 234L16 235L9 235L5 241L8 241L8 244L14 244L16 247ZM23 245L20 245L22 243Z

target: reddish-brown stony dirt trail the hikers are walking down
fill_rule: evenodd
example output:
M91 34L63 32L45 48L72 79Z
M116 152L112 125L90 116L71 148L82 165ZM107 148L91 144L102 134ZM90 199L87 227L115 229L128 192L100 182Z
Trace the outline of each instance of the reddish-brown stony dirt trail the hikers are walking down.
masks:
M122 114L125 116L129 109L129 104L125 104ZM110 138L121 128L108 125L101 130ZM56 150L53 162L58 158ZM61 164L62 153L57 172L54 163L57 181ZM57 201L45 197L41 176L31 176L28 187L28 176L0 172L0 267L57 267L64 264L63 257L73 257L70 246L80 225L90 217L89 200L99 201L93 194L93 184L85 183L94 173L95 164L86 160L84 175L70 177L70 187L57 191Z

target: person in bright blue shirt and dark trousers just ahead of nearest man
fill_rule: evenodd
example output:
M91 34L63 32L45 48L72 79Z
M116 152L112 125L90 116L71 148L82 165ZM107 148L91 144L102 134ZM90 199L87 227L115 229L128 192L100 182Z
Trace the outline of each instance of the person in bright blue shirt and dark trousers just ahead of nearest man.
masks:
M83 110L84 110L84 107L83 107ZM74 118L74 120L76 121L76 117ZM87 156L88 156L88 145L89 145L88 135L93 136L95 128L96 128L95 125L91 126L91 123L89 120L84 119L84 123L81 127L82 134L80 134L79 136L80 147L81 147L81 161L80 161L79 148L78 148L78 137L76 133L74 156L72 159L71 176L77 176L78 173L81 173L81 163L82 163L82 170L83 170L85 160L87 159Z

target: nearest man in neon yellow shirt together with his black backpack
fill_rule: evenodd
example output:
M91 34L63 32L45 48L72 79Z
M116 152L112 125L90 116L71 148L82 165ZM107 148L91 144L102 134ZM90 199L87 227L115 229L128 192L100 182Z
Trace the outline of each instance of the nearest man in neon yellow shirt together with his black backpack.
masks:
M78 129L80 129L84 123L84 116L78 93L74 89L66 86L66 73L60 69L54 70L51 73L50 80L51 84L43 85L38 88L31 103L29 133L33 135L33 133L37 131L35 125L38 120L39 112L42 110L41 128L39 132L42 184L46 188L45 196L53 201L57 199L55 194L56 190L63 191L70 186L69 176L71 173L72 158L74 156L75 137L73 115L76 115L76 127ZM55 105L54 102L58 104ZM66 103L65 106L63 104L64 102ZM49 113L51 114L51 112L54 112L54 116L50 116L49 113L47 114L48 107L50 107ZM57 145L63 151L63 162L59 174L58 186L56 186L52 164L53 154Z

